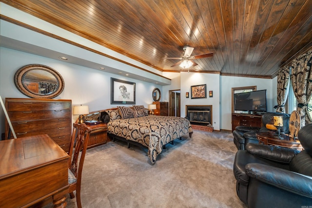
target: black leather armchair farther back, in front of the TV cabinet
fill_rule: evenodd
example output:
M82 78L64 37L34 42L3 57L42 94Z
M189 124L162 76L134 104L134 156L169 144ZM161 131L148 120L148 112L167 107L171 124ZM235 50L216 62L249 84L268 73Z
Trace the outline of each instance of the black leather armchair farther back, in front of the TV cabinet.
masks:
M283 128L281 128L281 132L289 133L289 117L290 114L286 113L277 113L277 112L269 112L264 113L261 117L261 128L259 127L247 127L247 126L237 126L233 131L234 136L234 144L236 145L238 150L245 150L247 144L250 143L259 143L255 133L256 132L268 132L266 128L266 124L271 122L271 119L274 115L283 116Z

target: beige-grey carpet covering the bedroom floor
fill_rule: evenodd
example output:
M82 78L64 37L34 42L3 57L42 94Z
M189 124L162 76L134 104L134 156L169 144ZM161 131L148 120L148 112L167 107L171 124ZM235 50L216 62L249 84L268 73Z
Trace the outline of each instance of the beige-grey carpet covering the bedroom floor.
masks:
M195 131L158 155L109 142L87 151L83 208L246 208L235 193L232 133ZM76 198L67 199L68 208ZM49 206L46 206L49 207Z

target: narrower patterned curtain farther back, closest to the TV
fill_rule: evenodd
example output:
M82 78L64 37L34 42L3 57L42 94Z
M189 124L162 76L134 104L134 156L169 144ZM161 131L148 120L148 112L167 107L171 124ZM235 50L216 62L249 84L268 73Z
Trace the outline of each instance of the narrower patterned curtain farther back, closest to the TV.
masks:
M277 75L277 105L276 112L285 113L285 103L289 91L289 66L284 66Z

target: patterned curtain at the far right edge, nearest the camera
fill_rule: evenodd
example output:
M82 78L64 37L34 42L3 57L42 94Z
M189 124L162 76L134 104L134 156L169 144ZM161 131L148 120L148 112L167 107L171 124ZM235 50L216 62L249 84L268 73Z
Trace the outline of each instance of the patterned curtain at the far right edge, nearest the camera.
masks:
M292 61L292 88L297 99L297 111L301 117L301 127L312 123L308 102L312 96L312 50Z

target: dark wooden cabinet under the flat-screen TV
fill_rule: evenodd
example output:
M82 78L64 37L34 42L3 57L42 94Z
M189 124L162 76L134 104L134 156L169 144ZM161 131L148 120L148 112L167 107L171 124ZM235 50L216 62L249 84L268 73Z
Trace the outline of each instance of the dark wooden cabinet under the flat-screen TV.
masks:
M232 131L236 126L261 127L261 115L232 113Z

